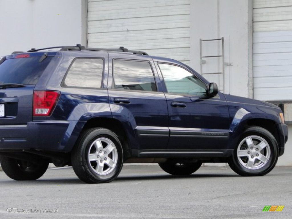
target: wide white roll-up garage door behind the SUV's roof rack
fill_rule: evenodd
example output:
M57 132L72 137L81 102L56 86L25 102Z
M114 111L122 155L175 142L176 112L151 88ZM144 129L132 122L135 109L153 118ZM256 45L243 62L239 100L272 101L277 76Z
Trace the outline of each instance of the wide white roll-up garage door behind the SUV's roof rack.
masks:
M190 61L190 0L89 0L88 47Z

